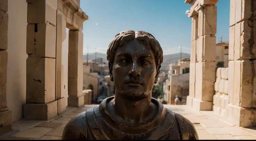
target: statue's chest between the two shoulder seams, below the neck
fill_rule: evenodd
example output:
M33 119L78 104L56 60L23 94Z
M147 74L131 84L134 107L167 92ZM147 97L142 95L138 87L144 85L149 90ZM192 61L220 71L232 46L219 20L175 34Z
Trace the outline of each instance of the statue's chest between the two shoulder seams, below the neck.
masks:
M86 111L87 140L179 140L181 132L174 113L167 112L161 122L152 121L138 127L114 122L100 108Z

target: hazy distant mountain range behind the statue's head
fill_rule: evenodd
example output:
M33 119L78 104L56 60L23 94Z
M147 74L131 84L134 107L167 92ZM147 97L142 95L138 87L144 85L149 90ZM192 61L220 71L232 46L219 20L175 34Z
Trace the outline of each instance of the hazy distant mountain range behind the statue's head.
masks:
M96 53L97 58L103 58L103 62L107 63L107 55L104 53ZM183 58L190 58L190 54L188 53L175 53L170 55L164 55L163 56L163 63L161 65L160 70L168 70L168 65L170 63L176 63L179 59ZM87 59L87 55L83 55L83 60ZM95 53L90 53L88 55L88 60L95 59Z

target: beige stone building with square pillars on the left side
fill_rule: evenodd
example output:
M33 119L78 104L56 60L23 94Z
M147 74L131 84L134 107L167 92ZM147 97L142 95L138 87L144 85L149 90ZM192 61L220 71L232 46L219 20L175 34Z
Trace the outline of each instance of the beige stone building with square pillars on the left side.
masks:
M65 93L67 106L83 105L80 0L0 0L0 9L0 134L21 118L62 113Z

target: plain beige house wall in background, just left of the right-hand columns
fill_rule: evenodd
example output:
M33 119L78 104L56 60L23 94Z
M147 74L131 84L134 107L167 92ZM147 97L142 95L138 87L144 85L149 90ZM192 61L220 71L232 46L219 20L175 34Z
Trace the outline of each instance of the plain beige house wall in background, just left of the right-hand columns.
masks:
M189 73L170 77L170 104L174 104L176 95L181 98L189 95Z

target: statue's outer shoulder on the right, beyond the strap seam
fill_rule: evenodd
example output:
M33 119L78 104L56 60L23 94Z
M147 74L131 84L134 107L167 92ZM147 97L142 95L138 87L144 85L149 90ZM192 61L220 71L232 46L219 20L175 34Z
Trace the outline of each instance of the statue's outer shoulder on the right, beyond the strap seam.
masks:
M175 113L175 116L181 130L182 140L199 140L193 123L178 113Z

